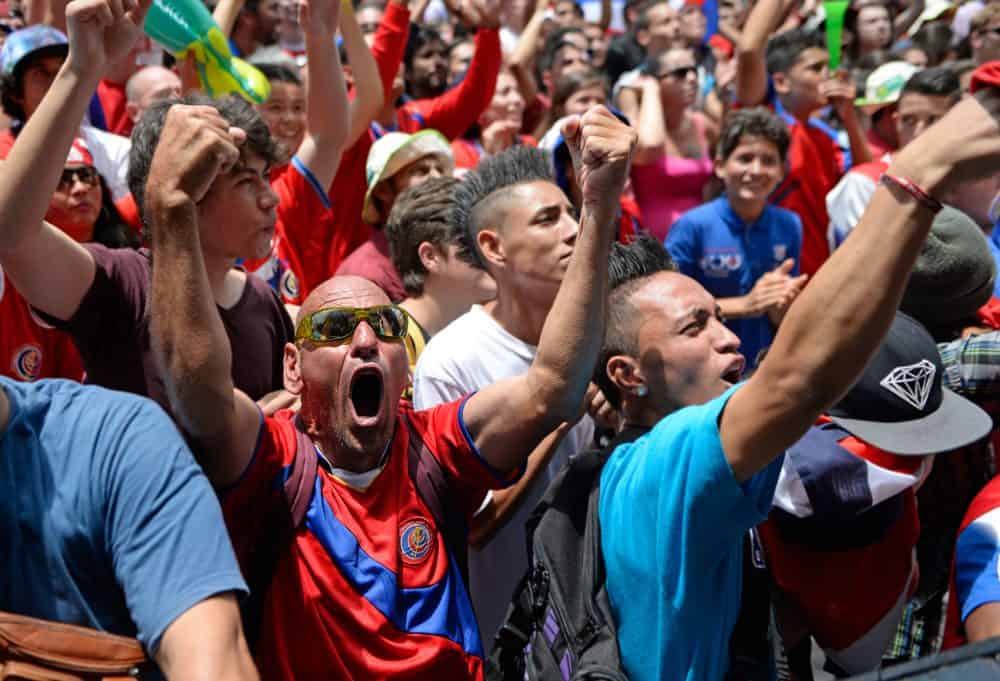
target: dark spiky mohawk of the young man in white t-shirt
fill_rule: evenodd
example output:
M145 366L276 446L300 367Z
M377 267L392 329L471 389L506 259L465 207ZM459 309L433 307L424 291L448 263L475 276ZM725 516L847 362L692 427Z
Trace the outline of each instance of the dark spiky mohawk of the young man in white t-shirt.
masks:
M519 145L484 159L455 188L452 221L469 235L481 265L485 266L485 259L479 250L479 232L487 226L499 227L503 221L497 215L498 199L512 187L537 181L555 182L550 155L535 147Z

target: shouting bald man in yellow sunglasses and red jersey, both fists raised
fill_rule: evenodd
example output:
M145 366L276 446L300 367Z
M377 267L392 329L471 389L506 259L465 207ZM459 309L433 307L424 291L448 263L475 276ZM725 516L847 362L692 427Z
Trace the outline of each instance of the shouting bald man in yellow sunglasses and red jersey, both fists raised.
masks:
M186 113L171 109L171 130L181 132ZM606 110L589 111L566 133L581 164L582 236L527 371L414 411L400 400L405 312L364 279L334 277L306 299L296 342L285 346L286 388L302 399L294 421L263 418L234 389L232 350L200 253L196 198L220 166L239 159L239 136L215 118L196 144L162 138L148 199L153 337L178 421L209 479L228 490L244 569L257 547L279 539L265 526L271 513L289 510L279 491L289 467L314 462L304 522L281 547L265 596L257 648L264 677L482 678L459 568L467 524L487 489L516 481L528 452L579 413L603 335L603 265L635 144ZM578 230L551 182L493 188L470 207L516 208L494 214L499 231L534 234L539 215L544 228Z

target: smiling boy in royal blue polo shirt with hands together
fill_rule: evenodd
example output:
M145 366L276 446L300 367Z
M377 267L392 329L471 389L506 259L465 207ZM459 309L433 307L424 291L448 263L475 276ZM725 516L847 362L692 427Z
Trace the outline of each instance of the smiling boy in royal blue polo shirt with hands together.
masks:
M768 203L788 145L785 124L767 109L731 114L715 159L725 193L682 215L666 241L677 268L718 300L750 368L806 281L797 276L802 222Z

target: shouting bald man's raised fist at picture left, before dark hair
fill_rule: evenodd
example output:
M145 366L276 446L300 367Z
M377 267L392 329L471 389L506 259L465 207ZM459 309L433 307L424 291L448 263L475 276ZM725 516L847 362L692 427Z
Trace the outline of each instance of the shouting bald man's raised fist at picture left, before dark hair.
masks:
M220 174L240 159L246 133L211 106L176 104L167 112L146 181L151 215L190 201L197 204Z

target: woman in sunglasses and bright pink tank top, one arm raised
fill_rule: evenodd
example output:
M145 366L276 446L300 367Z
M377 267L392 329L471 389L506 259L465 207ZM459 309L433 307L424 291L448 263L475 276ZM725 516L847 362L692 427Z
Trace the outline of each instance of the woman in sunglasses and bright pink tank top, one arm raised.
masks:
M651 57L638 81L642 92L632 160L632 188L646 229L661 241L674 221L702 202L712 177L712 124L694 110L694 52L672 48Z

